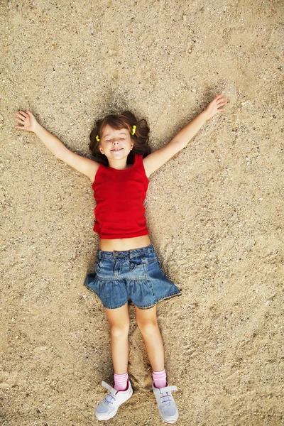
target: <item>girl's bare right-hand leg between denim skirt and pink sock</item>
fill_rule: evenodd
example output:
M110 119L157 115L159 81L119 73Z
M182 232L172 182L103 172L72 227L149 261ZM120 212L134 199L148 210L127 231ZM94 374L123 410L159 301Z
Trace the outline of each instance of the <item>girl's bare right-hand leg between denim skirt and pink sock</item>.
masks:
M149 309L135 307L135 310L137 325L143 336L152 370L163 371L165 368L164 347L158 327L157 306Z

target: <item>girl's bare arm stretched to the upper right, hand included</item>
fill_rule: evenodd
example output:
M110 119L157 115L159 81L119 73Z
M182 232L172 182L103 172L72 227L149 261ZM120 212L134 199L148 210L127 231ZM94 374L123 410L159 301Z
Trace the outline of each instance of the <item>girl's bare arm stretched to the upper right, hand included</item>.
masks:
M147 155L143 159L143 164L147 177L151 173L158 170L163 164L165 164L170 158L173 157L176 153L182 150L187 146L187 143L192 139L196 133L202 128L203 124L207 120L211 119L218 112L224 111L224 105L226 104L226 97L223 94L219 94L215 97L212 102L199 114L195 119L193 119L187 126L185 126L177 135L168 143L168 145L163 148L158 149L154 153Z

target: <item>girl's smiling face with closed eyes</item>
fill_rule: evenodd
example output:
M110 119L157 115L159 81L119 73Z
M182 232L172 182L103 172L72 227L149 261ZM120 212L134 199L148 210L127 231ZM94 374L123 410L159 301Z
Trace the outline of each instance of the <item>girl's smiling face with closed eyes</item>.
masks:
M105 126L102 131L99 151L107 158L120 160L129 155L133 148L133 141L128 129L116 130L113 127Z

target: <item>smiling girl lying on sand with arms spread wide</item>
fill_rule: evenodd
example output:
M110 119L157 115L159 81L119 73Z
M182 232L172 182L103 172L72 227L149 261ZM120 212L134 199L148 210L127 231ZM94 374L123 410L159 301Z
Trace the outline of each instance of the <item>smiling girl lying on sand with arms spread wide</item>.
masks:
M153 369L153 392L160 418L169 424L178 420L178 408L166 381L163 341L157 322L157 303L180 295L180 290L165 278L146 227L143 202L148 178L178 151L185 148L203 124L224 111L226 97L219 94L168 145L150 153L149 128L129 111L97 121L89 148L94 160L69 151L63 143L40 126L30 111L19 111L17 129L33 131L60 160L92 182L99 251L95 273L84 285L97 293L104 305L111 328L111 356L114 387L102 381L107 396L99 403L95 416L109 420L119 405L133 393L127 373L129 358L129 308L135 305L136 320Z

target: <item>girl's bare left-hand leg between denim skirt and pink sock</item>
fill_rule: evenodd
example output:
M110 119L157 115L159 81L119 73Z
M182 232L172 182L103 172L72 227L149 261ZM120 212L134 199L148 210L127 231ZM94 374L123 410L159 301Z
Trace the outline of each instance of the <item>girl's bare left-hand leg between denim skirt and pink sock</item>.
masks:
M126 303L117 309L106 309L111 326L111 356L114 373L124 374L129 361L129 307Z

